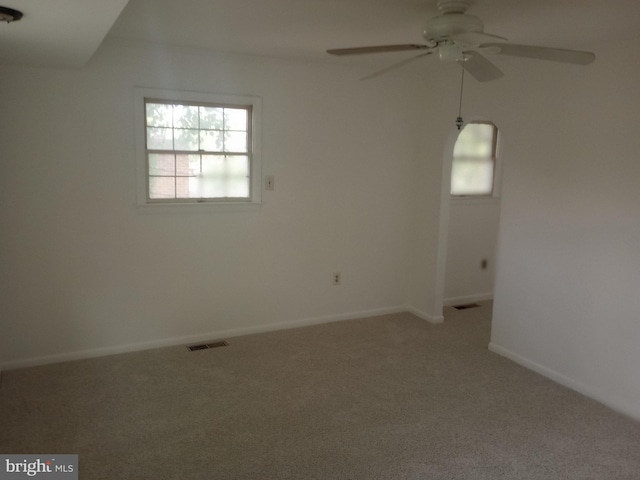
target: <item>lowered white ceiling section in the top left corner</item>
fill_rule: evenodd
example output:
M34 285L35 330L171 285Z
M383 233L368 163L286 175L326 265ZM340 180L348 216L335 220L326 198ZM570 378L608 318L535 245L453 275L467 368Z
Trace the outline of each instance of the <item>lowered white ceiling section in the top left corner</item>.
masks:
M0 65L85 65L128 0L0 0L24 17L0 23Z

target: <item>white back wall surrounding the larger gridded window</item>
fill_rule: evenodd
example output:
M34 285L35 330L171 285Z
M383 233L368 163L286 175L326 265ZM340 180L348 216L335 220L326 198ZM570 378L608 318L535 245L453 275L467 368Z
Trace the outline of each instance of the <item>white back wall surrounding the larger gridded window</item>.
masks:
M0 364L405 308L416 171L440 166L422 82L363 74L121 41L78 71L0 67ZM136 86L261 96L264 205L136 207Z

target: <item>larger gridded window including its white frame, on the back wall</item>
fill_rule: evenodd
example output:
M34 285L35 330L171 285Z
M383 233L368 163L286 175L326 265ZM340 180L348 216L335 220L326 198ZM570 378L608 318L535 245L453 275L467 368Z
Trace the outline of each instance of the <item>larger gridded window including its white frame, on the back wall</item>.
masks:
M139 204L259 203L260 102L137 90Z

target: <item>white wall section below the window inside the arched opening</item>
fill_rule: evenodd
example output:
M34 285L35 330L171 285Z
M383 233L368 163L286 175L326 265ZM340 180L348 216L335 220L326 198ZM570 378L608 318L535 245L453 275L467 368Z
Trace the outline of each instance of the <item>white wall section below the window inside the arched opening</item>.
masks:
M499 220L499 198L451 200L445 305L493 298Z

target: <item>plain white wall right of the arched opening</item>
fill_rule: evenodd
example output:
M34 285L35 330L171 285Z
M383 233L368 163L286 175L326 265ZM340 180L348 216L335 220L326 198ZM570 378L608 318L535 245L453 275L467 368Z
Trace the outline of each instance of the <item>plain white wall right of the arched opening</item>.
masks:
M640 40L596 54L580 74L532 67L504 90L491 341L640 418Z

